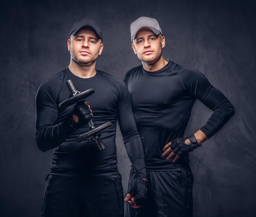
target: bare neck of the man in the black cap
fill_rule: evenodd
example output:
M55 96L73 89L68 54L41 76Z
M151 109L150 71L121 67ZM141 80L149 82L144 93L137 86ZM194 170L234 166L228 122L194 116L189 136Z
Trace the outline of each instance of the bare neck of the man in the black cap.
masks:
M96 61L90 65L87 65L87 64L79 64L71 59L70 65L68 66L68 68L77 77L92 78L94 75L96 75L95 66L96 66Z

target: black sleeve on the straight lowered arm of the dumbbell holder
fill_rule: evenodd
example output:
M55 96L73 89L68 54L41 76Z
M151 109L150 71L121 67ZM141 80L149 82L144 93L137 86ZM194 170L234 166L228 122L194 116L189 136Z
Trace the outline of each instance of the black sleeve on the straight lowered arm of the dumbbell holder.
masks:
M132 111L132 101L126 84L121 86L118 122L124 145L137 177L147 179L144 151Z

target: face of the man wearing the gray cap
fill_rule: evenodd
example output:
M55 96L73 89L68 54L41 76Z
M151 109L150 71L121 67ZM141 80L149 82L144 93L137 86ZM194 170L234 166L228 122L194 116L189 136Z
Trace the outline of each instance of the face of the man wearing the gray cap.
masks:
M139 60L147 64L154 64L162 56L165 44L164 36L155 35L152 31L139 31L132 41L132 49Z

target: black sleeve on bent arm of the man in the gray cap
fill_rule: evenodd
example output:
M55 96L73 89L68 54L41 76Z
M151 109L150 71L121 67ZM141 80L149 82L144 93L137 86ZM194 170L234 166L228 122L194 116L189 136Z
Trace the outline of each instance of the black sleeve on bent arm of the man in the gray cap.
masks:
M200 71L185 68L184 72L178 75L184 89L213 110L209 120L200 128L209 139L234 115L234 106L222 92L210 84Z

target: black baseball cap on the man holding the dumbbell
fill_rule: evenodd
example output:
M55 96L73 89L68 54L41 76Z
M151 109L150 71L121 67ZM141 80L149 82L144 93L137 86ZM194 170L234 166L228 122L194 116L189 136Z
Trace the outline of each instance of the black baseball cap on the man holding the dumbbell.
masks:
M92 28L95 31L97 37L101 39L101 41L103 41L103 34L98 24L93 20L89 20L89 19L82 19L74 22L73 27L70 31L70 36L75 35L82 27Z

